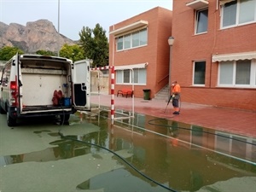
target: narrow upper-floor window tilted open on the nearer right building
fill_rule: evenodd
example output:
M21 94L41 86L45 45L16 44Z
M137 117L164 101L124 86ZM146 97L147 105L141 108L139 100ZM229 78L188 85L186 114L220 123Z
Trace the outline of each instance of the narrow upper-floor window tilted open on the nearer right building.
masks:
M208 28L208 9L196 11L196 30L195 33L207 32Z

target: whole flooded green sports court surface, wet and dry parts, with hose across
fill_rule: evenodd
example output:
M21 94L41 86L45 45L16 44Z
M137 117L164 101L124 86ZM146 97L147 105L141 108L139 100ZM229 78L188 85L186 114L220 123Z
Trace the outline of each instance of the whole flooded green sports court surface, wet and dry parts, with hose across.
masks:
M0 115L0 191L256 191L256 138L119 113L14 128Z

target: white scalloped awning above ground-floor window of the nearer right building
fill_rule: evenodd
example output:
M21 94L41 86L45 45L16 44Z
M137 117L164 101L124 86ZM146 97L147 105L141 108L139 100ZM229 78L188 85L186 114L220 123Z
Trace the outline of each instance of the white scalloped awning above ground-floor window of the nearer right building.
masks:
M252 60L252 59L256 59L256 51L244 52L244 53L212 55L212 62Z

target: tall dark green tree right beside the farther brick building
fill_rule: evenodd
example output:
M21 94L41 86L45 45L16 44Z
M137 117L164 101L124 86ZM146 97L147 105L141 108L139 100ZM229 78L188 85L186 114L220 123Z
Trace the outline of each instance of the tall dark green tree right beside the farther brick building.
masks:
M96 24L94 29L83 27L79 32L79 42L84 49L84 56L93 60L94 67L108 65L108 38L102 26Z

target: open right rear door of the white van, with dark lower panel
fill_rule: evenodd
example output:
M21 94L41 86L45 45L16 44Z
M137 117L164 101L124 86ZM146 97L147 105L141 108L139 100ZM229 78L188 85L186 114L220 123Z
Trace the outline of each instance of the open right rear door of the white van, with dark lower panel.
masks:
M72 67L73 105L80 111L90 110L90 60L75 61Z

